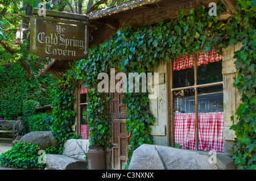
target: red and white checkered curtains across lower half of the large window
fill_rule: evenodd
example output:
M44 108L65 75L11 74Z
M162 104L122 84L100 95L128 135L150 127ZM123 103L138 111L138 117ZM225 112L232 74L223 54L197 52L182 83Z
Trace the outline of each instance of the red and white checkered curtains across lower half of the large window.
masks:
M224 152L223 112L198 114L199 150ZM195 113L175 113L175 143L196 150Z

